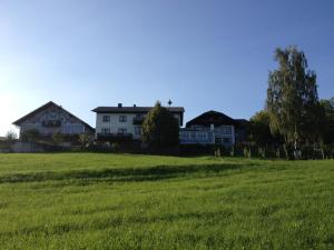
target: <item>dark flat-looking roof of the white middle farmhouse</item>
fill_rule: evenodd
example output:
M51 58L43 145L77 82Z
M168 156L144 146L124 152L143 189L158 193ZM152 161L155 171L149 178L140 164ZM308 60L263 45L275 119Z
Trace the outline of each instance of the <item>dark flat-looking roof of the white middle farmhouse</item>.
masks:
M147 113L153 108L154 107L97 107L91 111L97 113ZM167 109L175 113L185 112L183 107L167 107Z

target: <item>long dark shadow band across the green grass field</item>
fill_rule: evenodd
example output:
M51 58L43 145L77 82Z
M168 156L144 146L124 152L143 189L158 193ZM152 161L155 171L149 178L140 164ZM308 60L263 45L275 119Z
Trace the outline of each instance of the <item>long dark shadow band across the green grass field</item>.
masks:
M240 169L248 164L220 163L194 166L157 166L150 168L112 168L101 170L47 171L13 173L0 177L0 183L36 182L50 180L78 181L149 181L183 177L195 173L217 173L232 169Z

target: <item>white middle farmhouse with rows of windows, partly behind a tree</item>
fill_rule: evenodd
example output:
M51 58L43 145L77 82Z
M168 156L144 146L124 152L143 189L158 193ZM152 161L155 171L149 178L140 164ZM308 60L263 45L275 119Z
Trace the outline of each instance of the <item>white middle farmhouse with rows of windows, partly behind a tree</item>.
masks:
M98 107L92 111L96 112L96 139L102 138L131 138L140 140L141 124L148 111L153 107L124 107L118 103L117 107ZM169 107L169 111L183 126L184 112L183 107Z

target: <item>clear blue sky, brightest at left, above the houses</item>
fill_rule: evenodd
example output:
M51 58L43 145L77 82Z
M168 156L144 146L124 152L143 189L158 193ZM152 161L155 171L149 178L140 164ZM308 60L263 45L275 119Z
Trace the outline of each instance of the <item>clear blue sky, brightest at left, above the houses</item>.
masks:
M264 107L276 47L296 44L334 96L332 0L0 0L0 134L52 100L91 126L97 106Z

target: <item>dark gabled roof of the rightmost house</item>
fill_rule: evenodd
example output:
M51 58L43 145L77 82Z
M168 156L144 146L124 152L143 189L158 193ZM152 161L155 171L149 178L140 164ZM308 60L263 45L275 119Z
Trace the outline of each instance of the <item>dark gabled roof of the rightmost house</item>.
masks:
M190 126L210 126L210 124L215 124L215 126L237 124L237 121L226 116L225 113L210 110L188 121L186 128L189 128Z

